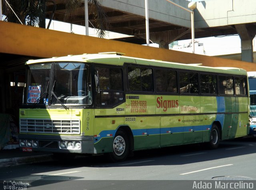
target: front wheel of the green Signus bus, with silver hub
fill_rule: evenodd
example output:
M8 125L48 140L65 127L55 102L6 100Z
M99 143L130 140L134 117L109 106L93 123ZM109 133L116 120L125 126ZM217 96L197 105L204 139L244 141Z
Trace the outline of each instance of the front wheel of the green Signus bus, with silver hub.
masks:
M129 155L130 144L124 130L116 132L112 143L112 152L108 153L108 159L112 162L124 161Z

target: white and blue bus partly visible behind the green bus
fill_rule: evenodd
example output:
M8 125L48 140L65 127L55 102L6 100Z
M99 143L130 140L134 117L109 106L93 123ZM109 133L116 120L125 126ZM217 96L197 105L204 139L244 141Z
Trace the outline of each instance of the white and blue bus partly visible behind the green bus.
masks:
M256 71L247 72L250 89L250 132L256 136Z

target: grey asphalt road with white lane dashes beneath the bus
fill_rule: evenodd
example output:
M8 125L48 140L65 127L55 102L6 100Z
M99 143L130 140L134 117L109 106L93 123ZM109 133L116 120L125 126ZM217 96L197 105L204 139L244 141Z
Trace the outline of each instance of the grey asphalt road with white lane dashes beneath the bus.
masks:
M256 138L242 138L222 141L216 150L194 144L137 151L122 163L94 156L1 168L0 180L29 183L35 190L188 190L195 189L195 181L207 185L213 180L250 180L255 189L255 158Z

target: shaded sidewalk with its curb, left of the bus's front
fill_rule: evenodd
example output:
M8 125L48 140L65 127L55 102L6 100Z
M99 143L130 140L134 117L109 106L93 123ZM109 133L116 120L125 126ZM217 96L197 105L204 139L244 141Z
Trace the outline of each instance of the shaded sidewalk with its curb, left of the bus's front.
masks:
M44 161L52 161L52 154L22 152L20 149L0 150L0 168Z

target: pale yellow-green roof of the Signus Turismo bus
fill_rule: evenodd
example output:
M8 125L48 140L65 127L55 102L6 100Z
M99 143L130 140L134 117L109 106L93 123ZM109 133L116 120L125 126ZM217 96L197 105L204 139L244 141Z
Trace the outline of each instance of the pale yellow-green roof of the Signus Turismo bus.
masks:
M206 71L206 72L217 72L223 74L239 74L246 75L247 72L244 69L234 68L234 67L205 67L200 63L195 64L184 64L184 63L174 63L166 62L154 59L142 59L135 57L123 56L124 53L117 52L107 52L107 53L98 53L98 54L82 54L82 55L68 55L64 57L52 57L48 59L38 59L38 60L29 60L26 62L26 65L36 64L36 63L46 63L46 62L84 62L84 63L101 63L107 65L118 65L122 66L124 63L138 64L144 66L155 66L155 67L166 67L173 69L188 69L194 71Z

